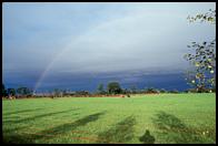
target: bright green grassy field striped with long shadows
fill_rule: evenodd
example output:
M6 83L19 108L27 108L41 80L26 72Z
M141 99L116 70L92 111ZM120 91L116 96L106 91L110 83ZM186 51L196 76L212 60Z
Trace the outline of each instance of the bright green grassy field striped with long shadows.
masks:
M6 100L2 124L4 143L216 143L216 95Z

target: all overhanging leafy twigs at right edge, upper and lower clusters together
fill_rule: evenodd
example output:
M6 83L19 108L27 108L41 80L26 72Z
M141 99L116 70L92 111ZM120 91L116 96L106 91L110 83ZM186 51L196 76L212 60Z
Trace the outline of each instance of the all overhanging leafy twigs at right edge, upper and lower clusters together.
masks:
M216 10L209 10L205 14L188 17L190 22L200 20L201 22L216 23ZM204 92L205 88L216 86L216 39L210 42L192 42L188 48L192 48L191 53L185 54L185 59L192 65L187 71L187 82L194 86L197 92Z

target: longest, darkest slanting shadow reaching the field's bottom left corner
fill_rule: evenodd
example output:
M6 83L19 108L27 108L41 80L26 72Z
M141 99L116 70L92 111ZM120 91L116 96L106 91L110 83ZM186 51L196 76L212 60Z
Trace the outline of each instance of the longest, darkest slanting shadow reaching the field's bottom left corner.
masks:
M39 133L36 134L17 134L17 135L7 135L3 137L3 142L4 143L26 143L26 144L32 144L34 143L37 139L43 139L43 142L53 138L58 135L62 135L67 132L73 131L79 126L85 126L90 122L95 122L99 118L99 116L103 115L105 112L101 113L96 113L92 115L88 115L83 118L80 118L76 122L72 123L67 123L67 124L62 124L52 128L48 128L44 131L41 131Z

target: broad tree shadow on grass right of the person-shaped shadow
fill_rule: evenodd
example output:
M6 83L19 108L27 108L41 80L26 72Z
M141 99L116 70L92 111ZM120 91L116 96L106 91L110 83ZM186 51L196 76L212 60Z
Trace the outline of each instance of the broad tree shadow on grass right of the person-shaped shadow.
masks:
M159 129L158 135L166 143L191 144L191 143L212 143L207 138L202 129L188 127L182 121L171 114L159 112L152 118L155 126Z

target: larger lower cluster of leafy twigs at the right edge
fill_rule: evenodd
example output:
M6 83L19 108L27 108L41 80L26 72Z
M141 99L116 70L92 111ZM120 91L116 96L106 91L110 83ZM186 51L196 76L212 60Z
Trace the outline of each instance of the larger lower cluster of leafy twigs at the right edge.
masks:
M187 61L192 64L192 70L187 72L188 83L198 90L214 87L216 85L215 40L209 44L192 42L191 46L196 52L185 55Z

